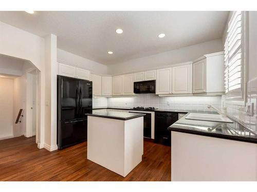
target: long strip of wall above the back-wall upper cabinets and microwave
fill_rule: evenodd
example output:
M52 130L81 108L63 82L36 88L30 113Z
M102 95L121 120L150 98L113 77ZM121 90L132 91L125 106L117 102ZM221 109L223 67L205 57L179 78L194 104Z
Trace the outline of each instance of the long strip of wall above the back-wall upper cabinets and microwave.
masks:
M204 54L219 51L223 51L222 39L207 41L181 49L117 63L115 65L108 66L107 72L108 74L119 74L167 66L175 63L193 61Z

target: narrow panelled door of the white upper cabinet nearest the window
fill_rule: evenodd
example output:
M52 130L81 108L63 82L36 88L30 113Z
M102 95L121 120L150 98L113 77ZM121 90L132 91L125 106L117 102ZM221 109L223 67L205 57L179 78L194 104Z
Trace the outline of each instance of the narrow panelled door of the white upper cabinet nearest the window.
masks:
M206 59L193 63L193 93L206 92Z

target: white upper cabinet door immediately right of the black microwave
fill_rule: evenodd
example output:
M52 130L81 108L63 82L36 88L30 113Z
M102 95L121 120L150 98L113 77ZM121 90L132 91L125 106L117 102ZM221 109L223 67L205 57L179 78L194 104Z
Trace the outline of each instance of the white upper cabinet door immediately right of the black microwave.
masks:
M156 94L171 94L171 68L156 71Z

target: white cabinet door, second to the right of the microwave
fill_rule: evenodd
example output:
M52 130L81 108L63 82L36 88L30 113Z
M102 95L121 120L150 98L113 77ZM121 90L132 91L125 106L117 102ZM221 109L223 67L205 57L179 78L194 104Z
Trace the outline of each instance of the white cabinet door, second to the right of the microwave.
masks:
M172 93L192 93L192 64L172 67Z

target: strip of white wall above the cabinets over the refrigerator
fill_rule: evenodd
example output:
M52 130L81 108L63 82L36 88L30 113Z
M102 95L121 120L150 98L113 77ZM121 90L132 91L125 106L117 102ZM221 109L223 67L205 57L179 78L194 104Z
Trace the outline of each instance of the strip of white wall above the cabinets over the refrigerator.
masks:
M57 49L57 60L68 62L78 67L90 69L90 71L93 73L107 74L107 66L61 49Z

